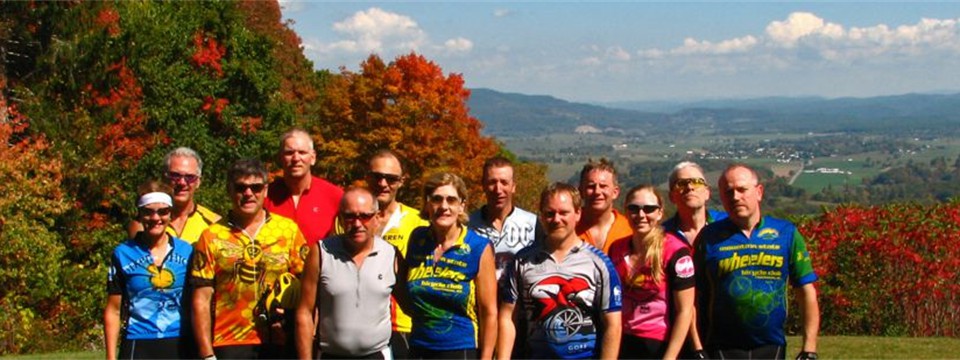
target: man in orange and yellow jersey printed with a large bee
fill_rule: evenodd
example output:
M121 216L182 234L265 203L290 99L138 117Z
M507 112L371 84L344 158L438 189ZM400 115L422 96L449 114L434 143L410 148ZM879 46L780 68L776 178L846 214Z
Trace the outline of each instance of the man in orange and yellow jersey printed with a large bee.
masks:
M232 209L194 244L193 328L202 359L296 356L295 301L284 310L266 300L278 279L299 276L308 248L293 220L263 208L266 182L259 160L234 163L227 173Z

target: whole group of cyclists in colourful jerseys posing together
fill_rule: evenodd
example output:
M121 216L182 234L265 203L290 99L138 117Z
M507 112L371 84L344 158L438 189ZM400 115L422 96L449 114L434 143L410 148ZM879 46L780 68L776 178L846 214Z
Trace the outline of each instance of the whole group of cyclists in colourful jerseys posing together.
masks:
M704 170L677 164L668 219L651 184L617 209L606 160L521 209L512 162L494 157L469 212L449 172L425 179L419 209L400 203L407 175L389 150L342 189L311 174L308 133L280 145L272 182L259 160L227 170L224 216L194 201L203 162L189 148L140 186L107 278L108 359L784 358L787 284L797 358L817 356L804 239L760 213L747 165L719 175L724 212L707 208Z

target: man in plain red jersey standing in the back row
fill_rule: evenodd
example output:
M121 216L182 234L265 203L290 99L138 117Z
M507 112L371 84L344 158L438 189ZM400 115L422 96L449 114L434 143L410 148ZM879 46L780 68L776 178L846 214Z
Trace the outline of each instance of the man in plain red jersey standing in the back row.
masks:
M343 196L343 189L313 176L310 171L316 162L310 134L301 129L284 133L278 156L283 177L270 183L264 205L271 213L296 221L310 244L331 232Z

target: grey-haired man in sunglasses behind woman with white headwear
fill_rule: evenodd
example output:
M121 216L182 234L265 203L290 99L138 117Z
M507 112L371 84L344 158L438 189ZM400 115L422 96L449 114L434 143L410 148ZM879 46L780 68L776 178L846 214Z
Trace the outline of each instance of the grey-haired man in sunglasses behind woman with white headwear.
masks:
M163 177L173 188L173 212L167 234L195 243L203 230L220 220L220 215L197 204L193 195L200 188L203 160L191 148L178 147L163 158ZM143 224L132 221L127 228L130 237L143 230Z

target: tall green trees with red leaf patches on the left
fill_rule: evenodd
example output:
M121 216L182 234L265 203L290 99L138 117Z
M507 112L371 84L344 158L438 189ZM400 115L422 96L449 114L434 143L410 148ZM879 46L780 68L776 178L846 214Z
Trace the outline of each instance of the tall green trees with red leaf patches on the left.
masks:
M197 196L222 211L227 164L272 158L280 133L319 117L320 78L275 1L0 2L0 47L0 99L23 119L4 144L31 139L27 144L44 149L36 156L3 149L3 161L56 164L60 175L29 167L0 174L48 184L70 205L20 213L39 221L30 229L46 232L8 227L7 234L47 234L61 249L47 252L50 263L33 258L36 252L9 258L56 270L47 272L55 286L37 288L57 289L50 301L14 313L35 315L25 323L53 329L44 339L60 348L100 344L93 325L100 322L109 251L123 240L135 187L160 176L167 151L189 146L203 156ZM19 193L0 193L0 207L29 207ZM13 290L0 306L33 296L19 285L5 289ZM3 340L0 353L37 350Z

